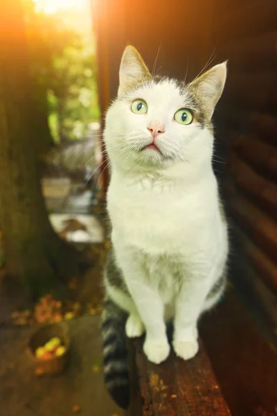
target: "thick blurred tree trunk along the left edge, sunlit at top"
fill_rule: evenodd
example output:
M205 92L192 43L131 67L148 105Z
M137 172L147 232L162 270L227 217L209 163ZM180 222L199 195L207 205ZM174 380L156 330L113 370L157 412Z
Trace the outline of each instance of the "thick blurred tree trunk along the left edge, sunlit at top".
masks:
M8 278L37 297L78 268L42 196L21 1L1 2L0 15L0 227Z

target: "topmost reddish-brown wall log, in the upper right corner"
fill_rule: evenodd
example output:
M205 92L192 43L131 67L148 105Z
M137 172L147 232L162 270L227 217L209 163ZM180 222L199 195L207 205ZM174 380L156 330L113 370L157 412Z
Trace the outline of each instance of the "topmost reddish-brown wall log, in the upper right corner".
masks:
M219 40L239 39L277 29L277 3L264 0L238 3L232 11L215 22L215 37Z

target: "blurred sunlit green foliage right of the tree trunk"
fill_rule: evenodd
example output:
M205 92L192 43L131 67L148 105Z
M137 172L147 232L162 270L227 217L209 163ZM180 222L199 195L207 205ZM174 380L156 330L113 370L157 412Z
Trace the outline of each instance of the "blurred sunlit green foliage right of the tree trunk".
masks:
M90 123L100 118L92 33L70 26L74 10L66 10L62 19L35 11L32 0L24 0L24 6L31 71L39 94L47 98L53 139L87 136Z

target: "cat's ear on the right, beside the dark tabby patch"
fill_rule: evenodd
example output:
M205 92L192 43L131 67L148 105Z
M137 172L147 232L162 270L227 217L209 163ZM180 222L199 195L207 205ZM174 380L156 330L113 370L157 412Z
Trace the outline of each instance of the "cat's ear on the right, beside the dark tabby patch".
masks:
M222 64L215 65L202 76L190 83L190 86L197 91L197 95L201 98L208 116L211 118L215 105L220 99L223 92L227 75L227 61Z

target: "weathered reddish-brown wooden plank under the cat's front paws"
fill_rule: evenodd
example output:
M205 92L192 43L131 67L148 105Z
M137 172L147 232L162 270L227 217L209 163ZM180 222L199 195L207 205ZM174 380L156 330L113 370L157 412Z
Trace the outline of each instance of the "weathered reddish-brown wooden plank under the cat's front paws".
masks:
M227 416L230 410L222 396L203 345L190 361L173 352L165 363L150 363L142 341L132 343L134 367L139 380L141 416ZM132 411L132 410L131 410Z

